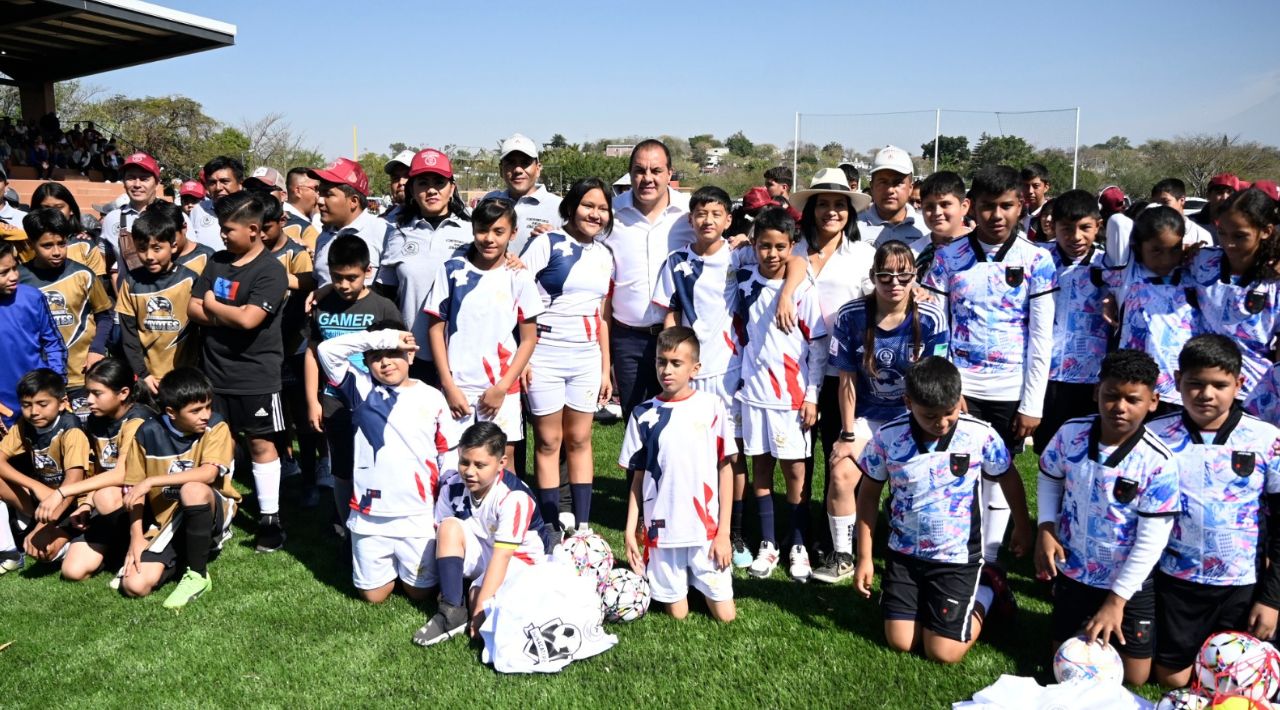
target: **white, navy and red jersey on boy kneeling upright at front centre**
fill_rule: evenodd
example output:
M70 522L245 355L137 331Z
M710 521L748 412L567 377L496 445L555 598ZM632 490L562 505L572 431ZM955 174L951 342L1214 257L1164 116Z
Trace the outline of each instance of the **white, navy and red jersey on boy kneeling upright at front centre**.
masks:
M655 397L631 412L618 466L644 471L644 527L650 548L705 545L719 530L719 467L737 453L721 398ZM723 491L732 495L732 491Z

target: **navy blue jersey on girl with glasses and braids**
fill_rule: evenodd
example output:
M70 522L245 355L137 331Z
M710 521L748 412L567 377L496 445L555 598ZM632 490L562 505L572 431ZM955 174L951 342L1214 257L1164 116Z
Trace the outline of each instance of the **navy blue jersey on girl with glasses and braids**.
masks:
M876 374L864 366L867 354L867 301L845 303L836 313L831 336L831 365L855 375L859 417L888 421L906 411L906 371L922 357L947 354L947 325L942 307L932 301L916 303L915 312L893 330L876 327L872 358Z

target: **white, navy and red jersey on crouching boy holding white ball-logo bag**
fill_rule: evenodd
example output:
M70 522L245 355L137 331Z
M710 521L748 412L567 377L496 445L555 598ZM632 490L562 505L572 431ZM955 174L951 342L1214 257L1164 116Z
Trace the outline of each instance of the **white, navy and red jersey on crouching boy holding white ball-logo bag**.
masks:
M476 500L462 482L462 475L449 471L440 485L435 504L435 522L458 518L472 526L476 536L492 553L495 545L516 549L516 559L538 564L547 556L543 546L543 517L532 491L511 471L503 471Z

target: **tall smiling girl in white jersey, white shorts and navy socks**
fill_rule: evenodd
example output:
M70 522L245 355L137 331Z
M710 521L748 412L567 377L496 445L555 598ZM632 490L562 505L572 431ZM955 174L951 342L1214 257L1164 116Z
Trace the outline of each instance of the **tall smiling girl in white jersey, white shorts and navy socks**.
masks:
M559 510L559 455L568 455L573 519L585 530L591 513L591 422L612 394L609 294L613 256L596 239L613 228L613 200L598 178L573 183L559 206L563 230L534 237L521 260L543 298L538 345L526 372L534 414L538 504L544 521Z

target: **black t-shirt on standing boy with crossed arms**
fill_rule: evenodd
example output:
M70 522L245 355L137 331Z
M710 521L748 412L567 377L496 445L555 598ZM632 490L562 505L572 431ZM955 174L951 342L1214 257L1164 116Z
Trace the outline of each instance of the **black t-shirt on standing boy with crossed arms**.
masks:
M252 330L205 327L205 374L219 394L274 394L280 391L284 363L276 321L289 280L284 266L266 249L244 266L233 266L237 258L228 251L210 257L191 296L212 296L228 306L255 306L266 311L266 320Z

